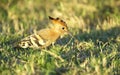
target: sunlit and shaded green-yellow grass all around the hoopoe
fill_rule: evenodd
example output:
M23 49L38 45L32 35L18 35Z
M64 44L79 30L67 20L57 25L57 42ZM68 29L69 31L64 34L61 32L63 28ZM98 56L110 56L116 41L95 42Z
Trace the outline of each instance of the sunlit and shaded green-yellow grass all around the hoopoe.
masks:
M1 0L0 75L119 75L119 7L119 0ZM65 20L74 38L47 50L12 48L47 27L48 16Z

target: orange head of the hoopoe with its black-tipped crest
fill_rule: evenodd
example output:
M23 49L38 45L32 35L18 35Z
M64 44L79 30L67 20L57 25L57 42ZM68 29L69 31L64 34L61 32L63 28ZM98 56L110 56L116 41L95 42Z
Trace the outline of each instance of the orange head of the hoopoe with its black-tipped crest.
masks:
M54 24L53 27L54 27L54 29L56 29L56 31L60 32L61 34L68 33L67 24L63 20L61 20L60 18L53 18L50 16L49 16L49 19Z

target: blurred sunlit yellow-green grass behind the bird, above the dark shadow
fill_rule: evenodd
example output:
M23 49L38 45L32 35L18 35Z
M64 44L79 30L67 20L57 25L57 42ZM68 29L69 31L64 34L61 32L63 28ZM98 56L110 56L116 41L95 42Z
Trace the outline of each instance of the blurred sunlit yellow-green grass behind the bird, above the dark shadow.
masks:
M48 16L60 17L69 28L81 31L108 29L120 23L120 0L0 0L2 33L43 28Z

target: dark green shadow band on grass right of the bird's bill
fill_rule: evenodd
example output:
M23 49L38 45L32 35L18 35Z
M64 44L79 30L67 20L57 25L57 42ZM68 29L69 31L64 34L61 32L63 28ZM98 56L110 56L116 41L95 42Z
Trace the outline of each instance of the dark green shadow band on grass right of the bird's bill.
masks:
M116 26L113 27L111 29L108 30L95 30L95 29L91 29L91 31L89 33L84 32L81 33L81 31L79 31L79 34L76 34L74 37L79 41L92 41L95 44L97 43L97 41L102 41L103 43L108 42L108 41L112 41L115 42L115 39L120 36L120 26ZM57 44L60 45L65 45L72 37L68 36L66 38L62 38L60 40L57 41ZM61 43L62 41L62 43ZM74 40L72 40L74 41Z

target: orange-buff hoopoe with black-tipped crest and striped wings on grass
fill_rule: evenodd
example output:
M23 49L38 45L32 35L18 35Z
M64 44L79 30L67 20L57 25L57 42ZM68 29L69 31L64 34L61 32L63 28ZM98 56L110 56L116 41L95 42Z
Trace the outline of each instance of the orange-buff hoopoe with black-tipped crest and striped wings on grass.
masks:
M60 18L49 16L53 25L22 39L17 47L20 48L46 48L54 43L61 35L68 33L67 24Z

